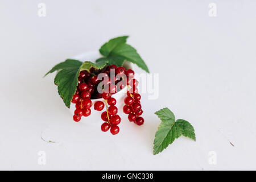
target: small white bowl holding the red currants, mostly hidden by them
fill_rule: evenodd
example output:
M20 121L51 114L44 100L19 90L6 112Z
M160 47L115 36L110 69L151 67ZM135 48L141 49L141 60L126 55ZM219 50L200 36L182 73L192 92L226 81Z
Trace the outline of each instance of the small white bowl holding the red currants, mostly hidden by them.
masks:
M80 55L71 57L71 59L77 59L77 60L80 60L82 62L84 62L84 61L95 62L95 60L100 58L100 57L101 57L100 53L98 51L94 51L94 52L81 53ZM125 67L126 69L130 69L131 65L130 65L129 62L125 62L123 64L123 67ZM126 91L127 91L127 88L125 87L122 90L120 90L118 93L115 93L115 94L112 95L112 97L115 98L115 100L117 100L117 104L115 106L117 106L117 108L118 108L118 113L122 112L122 108L123 108L123 105L124 105L123 100L126 97ZM93 106L94 106L94 103L96 101L104 101L104 99L103 98L98 98L98 99L92 100ZM106 109L104 109L102 111L97 111L97 110L94 110L93 106L90 107L91 114L88 117L82 117L80 122L86 122L86 124L88 123L88 125L100 125L100 123L102 123L101 113L103 111L105 111ZM71 103L71 106L70 106L69 110L70 110L72 115L74 114L75 109L76 109L75 104Z

